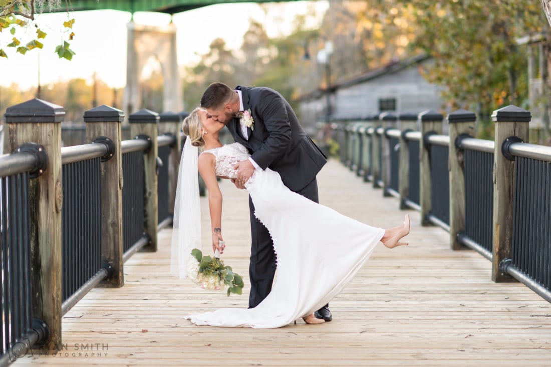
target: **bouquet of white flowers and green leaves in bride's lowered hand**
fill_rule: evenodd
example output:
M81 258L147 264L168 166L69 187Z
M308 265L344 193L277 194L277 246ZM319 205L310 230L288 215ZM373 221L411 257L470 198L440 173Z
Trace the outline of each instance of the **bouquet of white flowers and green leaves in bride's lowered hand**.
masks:
M191 251L191 258L187 264L187 276L193 283L208 290L228 290L231 293L242 294L243 278L233 272L230 266L224 265L219 257L203 256L198 249Z

